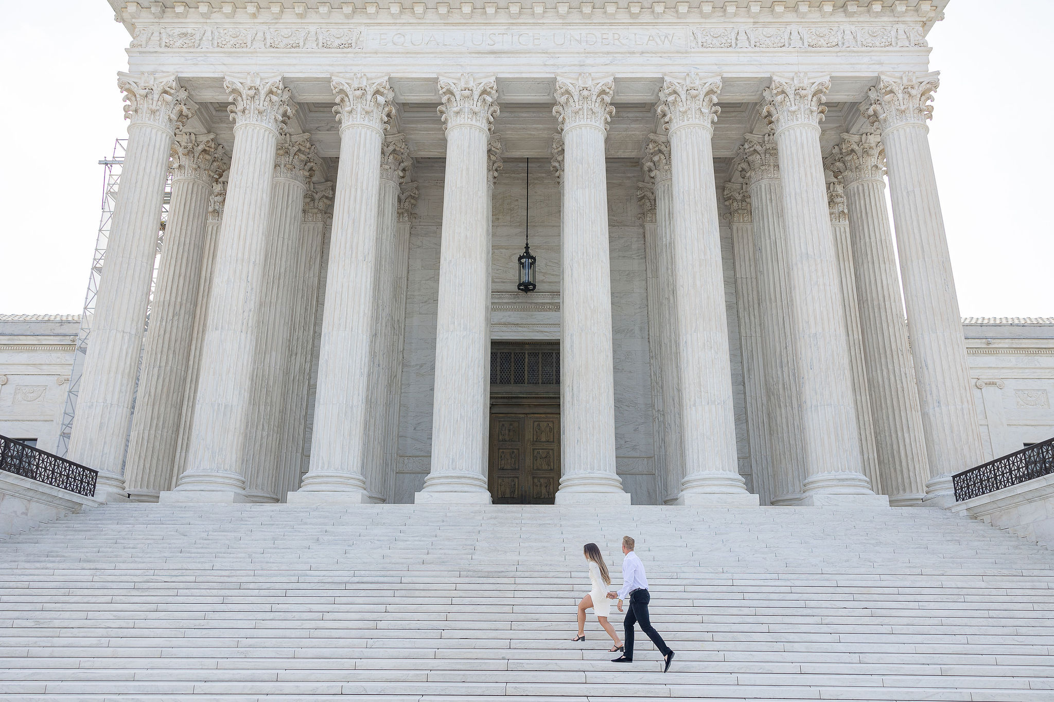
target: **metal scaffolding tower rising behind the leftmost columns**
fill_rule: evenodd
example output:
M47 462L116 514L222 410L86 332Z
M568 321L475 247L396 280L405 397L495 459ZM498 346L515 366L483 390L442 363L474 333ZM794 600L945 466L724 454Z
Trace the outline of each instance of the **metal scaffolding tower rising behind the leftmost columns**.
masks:
M80 378L84 372L84 358L87 355L87 343L92 332L92 319L95 315L95 298L99 292L99 278L102 275L102 263L106 255L106 244L110 241L110 224L114 216L114 204L117 201L117 190L120 185L121 166L124 163L126 139L114 141L113 155L99 161L102 166L102 203L99 215L99 229L95 239L95 253L92 256L92 270L87 276L87 292L84 294L84 309L80 316L80 328L77 330L77 345L73 355L73 366L70 369L65 405L62 409L62 423L55 453L65 456L70 449L70 433L73 429L74 416L77 412L77 398L80 394ZM144 329L150 324L150 310L154 301L154 287L157 283L157 263L164 240L164 224L169 218L169 200L172 193L172 176L169 175L164 184L164 204L161 212L161 223L157 237L157 256L154 258L154 273L150 284L150 302L147 307ZM145 334L143 335L145 339ZM142 367L142 349L139 352L139 366ZM136 373L136 387L139 385L139 374ZM134 408L134 400L133 400ZM130 417L131 423L131 417ZM130 427L131 429L131 424Z

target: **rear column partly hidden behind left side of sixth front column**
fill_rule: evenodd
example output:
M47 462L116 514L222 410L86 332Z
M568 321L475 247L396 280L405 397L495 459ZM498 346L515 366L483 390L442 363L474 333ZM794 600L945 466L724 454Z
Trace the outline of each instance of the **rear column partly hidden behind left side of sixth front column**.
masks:
M659 284L659 367L663 386L663 443L666 449L665 504L677 502L684 479L681 442L681 368L678 365L677 281L674 275L674 173L669 139L660 134L644 141L641 165L655 183L656 249Z

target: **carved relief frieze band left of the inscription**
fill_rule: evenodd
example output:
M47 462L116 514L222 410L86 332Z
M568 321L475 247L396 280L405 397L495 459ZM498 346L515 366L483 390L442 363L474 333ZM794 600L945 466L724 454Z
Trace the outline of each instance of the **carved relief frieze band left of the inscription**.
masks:
M363 48L358 27L274 28L267 26L136 25L131 48Z

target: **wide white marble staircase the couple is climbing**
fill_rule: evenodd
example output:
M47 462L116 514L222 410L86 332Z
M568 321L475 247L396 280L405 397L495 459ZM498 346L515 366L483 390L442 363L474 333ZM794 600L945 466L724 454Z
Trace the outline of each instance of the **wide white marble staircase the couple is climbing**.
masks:
M570 641L623 534L667 674ZM1051 702L1052 615L1054 553L928 507L108 505L0 541L0 700Z

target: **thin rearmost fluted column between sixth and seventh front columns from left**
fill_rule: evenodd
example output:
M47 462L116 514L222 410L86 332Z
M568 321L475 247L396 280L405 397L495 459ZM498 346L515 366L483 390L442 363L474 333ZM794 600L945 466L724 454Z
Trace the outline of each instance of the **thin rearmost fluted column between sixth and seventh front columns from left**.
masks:
M742 165L740 161L739 166ZM773 499L773 466L766 414L768 398L765 393L761 300L758 288L758 247L754 241L749 187L746 183L726 183L724 198L729 212L736 267L736 309L739 313L739 342L743 355L750 473L754 476L754 492L758 494L760 503L769 504Z

